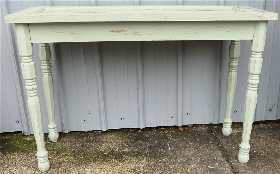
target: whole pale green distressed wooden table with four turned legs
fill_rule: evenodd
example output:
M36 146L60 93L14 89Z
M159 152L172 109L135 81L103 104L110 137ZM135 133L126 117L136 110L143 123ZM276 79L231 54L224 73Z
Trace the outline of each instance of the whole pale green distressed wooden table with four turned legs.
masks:
M240 163L248 162L267 21L277 20L278 14L248 6L54 6L31 7L4 18L6 23L15 23L40 171L48 171L50 162L44 143L32 43L40 43L49 139L56 142L58 133L54 119L49 42L231 40L226 115L222 129L223 135L229 136L232 132L231 113L237 81L239 41L252 40L243 134L238 154Z

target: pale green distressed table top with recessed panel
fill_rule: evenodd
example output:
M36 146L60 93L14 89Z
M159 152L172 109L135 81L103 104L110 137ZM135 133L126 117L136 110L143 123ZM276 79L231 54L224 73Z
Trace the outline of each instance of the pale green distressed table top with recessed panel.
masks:
M248 6L49 6L4 17L5 23L120 21L268 21L278 14Z

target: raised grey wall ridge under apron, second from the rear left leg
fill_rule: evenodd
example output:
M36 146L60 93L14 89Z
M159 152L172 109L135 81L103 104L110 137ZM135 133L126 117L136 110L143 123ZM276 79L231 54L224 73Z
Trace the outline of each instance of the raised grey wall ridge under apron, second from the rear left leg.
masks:
M105 104L105 94L104 85L102 78L102 65L100 59L100 47L99 42L93 42L93 52L94 52L94 62L96 62L96 72L97 72L97 84L98 84L98 96L99 96L99 110L101 116L101 130L106 131L108 129L107 124L107 114L106 114L106 104Z

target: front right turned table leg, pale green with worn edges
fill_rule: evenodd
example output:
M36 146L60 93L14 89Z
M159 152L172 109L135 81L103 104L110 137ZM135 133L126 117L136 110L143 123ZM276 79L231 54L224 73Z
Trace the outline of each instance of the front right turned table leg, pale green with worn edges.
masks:
M258 98L257 89L259 84L259 74L261 73L263 61L261 55L264 50L264 43L266 40L266 27L267 21L256 21L254 37L251 41L252 54L249 59L248 66L249 77L247 80L248 84L245 95L242 142L239 145L240 148L238 154L238 160L243 164L249 160L249 140Z

